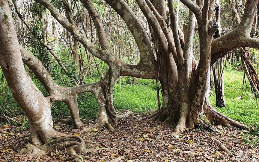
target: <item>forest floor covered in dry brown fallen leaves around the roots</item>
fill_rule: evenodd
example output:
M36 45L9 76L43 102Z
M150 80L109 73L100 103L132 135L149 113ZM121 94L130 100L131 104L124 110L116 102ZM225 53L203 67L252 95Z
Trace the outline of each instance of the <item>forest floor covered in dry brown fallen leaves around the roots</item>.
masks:
M92 129L83 132L80 129L68 130L69 126L54 121L54 128L67 135L80 135L88 148L110 148L91 156L96 162L109 162L123 156L127 162L178 162L178 161L259 161L259 146L251 145L244 139L247 131L213 127L217 135L203 129L188 129L182 135L171 135L173 126L148 121L147 114L131 114L121 119L114 126L115 131ZM19 121L19 119L17 119ZM20 122L22 122L22 117ZM89 124L85 123L85 126ZM18 154L18 150L29 142L29 129L18 131L14 126L0 125L0 161L66 161L68 155L63 151L49 152L38 159L29 159L27 155ZM212 138L218 139L231 154L222 151ZM248 135L250 139L251 135Z

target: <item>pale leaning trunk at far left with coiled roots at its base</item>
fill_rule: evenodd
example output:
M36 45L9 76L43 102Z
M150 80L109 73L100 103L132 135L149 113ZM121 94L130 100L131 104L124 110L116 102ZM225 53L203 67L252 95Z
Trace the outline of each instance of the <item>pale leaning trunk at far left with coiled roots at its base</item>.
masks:
M67 147L70 156L76 155L75 150L87 152L81 137L67 136L53 129L50 111L53 98L44 97L25 71L7 1L0 3L0 22L1 69L16 102L29 119L31 130L31 144L28 144L21 152L31 153L31 157L38 157L46 154L45 151L64 149L64 147ZM81 161L80 158L72 159Z

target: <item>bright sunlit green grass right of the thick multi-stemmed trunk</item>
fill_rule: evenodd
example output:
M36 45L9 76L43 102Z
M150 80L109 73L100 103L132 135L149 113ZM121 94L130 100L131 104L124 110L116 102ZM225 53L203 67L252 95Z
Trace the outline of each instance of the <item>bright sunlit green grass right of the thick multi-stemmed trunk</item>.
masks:
M224 85L226 107L216 109L234 120L252 126L254 123L259 122L259 100L255 98L251 91L248 80L246 80L246 83L248 88L245 83L243 85L243 71L225 71ZM242 96L243 99L236 99L239 96ZM213 94L210 95L210 101L213 106L216 105L214 89Z

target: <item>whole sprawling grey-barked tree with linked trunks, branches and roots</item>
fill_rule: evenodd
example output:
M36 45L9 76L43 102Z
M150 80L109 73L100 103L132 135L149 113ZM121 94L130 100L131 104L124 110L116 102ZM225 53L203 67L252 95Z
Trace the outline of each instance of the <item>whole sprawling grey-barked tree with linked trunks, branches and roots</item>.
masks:
M179 27L174 13L174 4L172 0L168 0L167 2L168 9L165 1L154 0L152 3L149 0L136 0L150 25L152 40L150 40L147 31L141 24L141 21L131 10L126 1L105 0L106 3L121 16L135 39L140 55L140 61L137 65L129 65L125 63L116 56L114 51L112 51L102 25L102 20L98 16L91 0L80 1L88 10L89 15L94 22L97 36L99 38L100 48L97 45L94 45L87 38L86 34L83 33L84 31L80 31L76 25L62 17L58 9L50 1L35 1L45 6L50 11L51 15L72 34L73 38L80 42L93 56L103 60L109 66L109 70L105 77L102 78L100 76L99 82L83 84L70 88L57 85L41 62L36 57L29 54L23 47L18 45L15 31L13 29L13 23L11 22L10 12L8 11L8 4L5 0L2 0L3 3L0 3L0 7L4 12L0 13L1 20L6 22L4 16L6 14L8 17L8 23L1 25L0 30L1 36L3 35L1 42L1 56L3 57L3 59L1 59L1 67L10 88L13 93L15 92L14 95L17 102L28 116L32 114L29 117L29 120L32 121L30 122L32 134L31 140L32 144L37 146L37 148L48 150L45 149L45 147L53 148L59 146L59 143L56 143L57 139L67 141L68 138L70 139L68 141L75 144L76 141L72 141L72 139L76 138L80 141L79 146L71 146L72 144L65 145L69 148L72 147L71 150L69 149L72 152L70 153L70 156L74 156L76 154L74 150L79 153L87 151L83 148L84 142L80 137L67 137L53 130L52 119L50 119L51 114L49 111L52 102L65 102L70 108L71 125L75 128L81 128L82 123L79 117L76 97L77 94L84 92L93 93L99 106L99 116L95 125L84 130L101 127L103 125L105 125L109 130L113 130L112 124L117 123L118 120L125 115L118 116L113 106L113 86L119 76L159 80L162 87L162 107L159 107L159 109L150 116L150 120L162 121L170 124L177 123L175 133L183 132L187 126L194 128L196 125L202 125L205 129L213 131L208 126L208 120L214 125L221 124L228 127L233 126L246 129L245 125L217 112L210 105L208 99L210 69L218 59L224 57L228 51L231 51L234 48L258 48L259 39L252 39L250 37L258 0L247 0L246 9L239 25L233 31L216 39L213 39L213 35L218 29L218 26L212 22L215 9L215 1L213 0L197 1L197 4L191 0L181 0L181 2L189 8L189 24L187 30L184 32L184 39L179 36ZM169 16L167 16L167 13L169 13ZM195 61L193 60L194 57L192 56L192 37L194 33L195 19L198 23L200 41L200 59L198 65L195 64ZM8 30L4 30L5 27L7 27ZM8 37L4 37L7 35L5 32L12 35L11 40ZM4 46L3 41L10 42L8 47ZM151 41L153 42L155 50L153 50ZM182 47L183 43L181 42L184 42L184 47ZM21 52L19 52L18 47ZM9 51L11 54L7 55L6 53ZM11 65L15 67L10 68L14 71L16 71L16 68L19 70L24 69L22 67L20 53L23 62L34 72L49 92L48 97L43 97L24 70L22 73L20 72L17 75L22 75L22 77L25 77L26 75L26 82L17 80L17 77L14 76L17 72L8 72L7 69L9 69ZM12 58L18 56L20 58L19 62L15 62ZM6 67L8 68L5 69ZM31 98L28 99L26 94L16 93L17 91L21 91L20 89L24 87L24 85L20 84L21 82L26 83L24 85L28 88L31 86L34 87L33 89L28 89L30 90L28 92L30 94L37 95L36 101L38 101L40 105L38 106L40 107L40 111L34 111L35 108L30 108L30 103L34 100L31 101ZM24 99L20 100L20 98ZM44 126L46 118L43 117L45 114L48 117L48 122L51 123L48 127ZM128 113L126 113L126 115L127 114ZM33 115L36 115L36 117ZM208 120L204 120L204 117L207 117ZM41 118L45 120L41 121ZM34 129L34 125L37 125L38 121L43 122L43 128L39 127L39 129ZM37 131L35 132L35 130ZM80 149L76 149L74 147L79 147ZM78 158L76 160L78 160Z

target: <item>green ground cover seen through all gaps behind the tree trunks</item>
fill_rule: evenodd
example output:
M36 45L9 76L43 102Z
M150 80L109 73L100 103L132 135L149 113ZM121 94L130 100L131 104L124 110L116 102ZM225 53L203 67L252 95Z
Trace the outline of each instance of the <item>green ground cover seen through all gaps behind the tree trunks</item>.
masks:
M62 77L62 75L60 75ZM55 76L54 76L55 79ZM66 77L62 79L67 80ZM87 79L87 83L95 82L98 78ZM69 82L69 79L67 80ZM56 82L62 85L56 79ZM228 67L224 72L225 84L225 108L216 108L223 114L234 120L240 121L246 125L252 126L259 122L258 100L251 91L249 82L246 81L248 87L243 85L243 71L233 70ZM47 96L46 90L39 81L34 79L34 83ZM24 114L13 99L13 95L7 89L6 81L1 83L2 93L0 95L0 110L8 112L11 116ZM242 100L237 100L239 96L243 96ZM161 97L161 94L160 94ZM210 101L213 106L216 104L216 96L210 95ZM79 114L82 118L94 120L98 116L98 107L94 96L91 93L79 94ZM114 106L117 110L128 109L133 112L146 113L149 110L157 108L156 83L154 80L134 79L132 77L119 78L114 86ZM8 115L8 114L7 114ZM62 102L55 102L52 106L52 115L56 117L69 116L68 107ZM0 121L1 122L1 121Z

